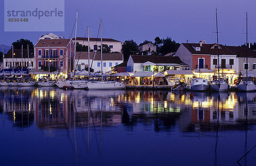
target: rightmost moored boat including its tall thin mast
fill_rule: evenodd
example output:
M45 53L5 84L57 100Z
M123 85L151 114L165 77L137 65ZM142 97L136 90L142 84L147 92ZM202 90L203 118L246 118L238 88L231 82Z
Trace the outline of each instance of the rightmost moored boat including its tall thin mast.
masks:
M238 84L237 88L239 91L250 92L256 90L256 85L253 83L253 78L248 77L247 70L248 70L248 40L247 40L247 13L246 13L246 77L242 77L240 79L240 83Z

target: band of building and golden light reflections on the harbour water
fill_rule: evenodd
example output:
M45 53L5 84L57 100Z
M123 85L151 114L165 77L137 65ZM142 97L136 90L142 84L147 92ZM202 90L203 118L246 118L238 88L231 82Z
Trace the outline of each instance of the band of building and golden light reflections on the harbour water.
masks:
M248 110L246 110L246 100ZM256 120L256 93L176 93L167 91L66 91L54 87L1 87L0 112L14 127L68 129L74 125L132 129L154 124L155 131L244 130ZM218 118L219 110L219 118ZM88 113L89 112L89 113ZM74 123L75 122L75 123Z

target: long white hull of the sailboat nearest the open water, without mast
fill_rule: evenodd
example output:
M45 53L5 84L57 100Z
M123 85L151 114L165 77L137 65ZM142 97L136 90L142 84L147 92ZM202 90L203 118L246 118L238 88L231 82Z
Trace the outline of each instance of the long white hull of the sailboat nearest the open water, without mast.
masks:
M108 90L108 89L124 89L125 84L118 82L98 82L98 83L87 83L89 90Z

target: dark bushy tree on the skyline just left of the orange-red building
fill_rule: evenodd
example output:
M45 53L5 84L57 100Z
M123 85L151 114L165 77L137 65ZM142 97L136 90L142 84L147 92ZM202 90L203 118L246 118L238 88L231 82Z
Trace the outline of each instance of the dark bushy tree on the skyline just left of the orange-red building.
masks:
M166 37L166 39L162 39L162 41L163 45L160 46L159 52L163 55L176 52L180 46L180 43L176 43L171 37Z

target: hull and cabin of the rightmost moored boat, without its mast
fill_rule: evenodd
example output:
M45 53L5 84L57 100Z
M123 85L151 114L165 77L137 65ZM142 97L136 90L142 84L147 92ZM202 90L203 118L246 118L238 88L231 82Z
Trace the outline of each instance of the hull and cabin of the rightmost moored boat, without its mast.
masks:
M251 77L242 77L240 83L237 85L239 91L252 92L256 91L256 85Z

